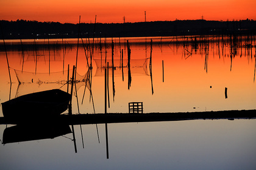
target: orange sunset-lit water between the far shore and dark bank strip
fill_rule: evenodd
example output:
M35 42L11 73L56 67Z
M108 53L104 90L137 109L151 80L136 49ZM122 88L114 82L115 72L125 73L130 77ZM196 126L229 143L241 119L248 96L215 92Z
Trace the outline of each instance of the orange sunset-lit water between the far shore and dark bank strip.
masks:
M212 38L206 49L204 44L197 44L196 49L191 44L184 45L182 44L183 38L179 38L179 42L172 41L173 38L152 38L154 43L152 46L151 80L151 71L149 70L150 39L113 39L115 44L113 49L115 69L109 69L110 108L108 112L128 112L128 103L131 101L143 101L144 112L255 109L255 47L246 49L243 46L238 46L236 53L234 53L230 51L229 38L225 39L225 44L220 45L219 41L213 41L216 38ZM106 44L104 43L105 40ZM132 83L129 90L127 88L128 68L126 67L127 40L129 40L131 49L130 70L132 74ZM52 43L50 43L49 52L47 42L37 40L37 51L27 49L24 52L24 62L22 52L18 47L7 52L9 64L12 68L11 98L14 98L17 93L22 95L54 88L66 90L66 85L60 83L22 83L18 85L13 70L23 69L26 72L37 72L37 75L40 76L40 73L49 74L50 72L50 75L51 73L53 75L53 72L68 70L68 64L71 69L76 64L77 50L74 39L63 41L66 46L65 50L63 50L62 39L52 41L54 41L55 47L53 48ZM97 38L94 39L94 42L97 44L94 46L93 60L91 60L93 66L91 89L96 113L99 113L104 112L104 66L106 56L109 66L112 66L112 47L110 44L112 39ZM99 45L100 42L101 46ZM46 45L43 46L43 43ZM244 44L244 41L241 44ZM122 49L123 70L120 67ZM77 73L85 75L88 71L86 56L90 56L90 51L84 52L84 47L81 45L77 56ZM4 52L0 53L0 60L0 87L2 89L0 97L1 102L4 102L9 100L10 90ZM101 64L97 64L97 62ZM162 69L162 62L164 70ZM90 63L90 60L88 63ZM66 77L66 75L63 75L63 77ZM114 80L112 77L114 77ZM225 87L227 87L227 98L224 94ZM77 84L80 112L92 113L93 106L88 90L85 90L83 100L84 88L85 84ZM152 94L152 89L154 94ZM113 94L114 90L115 95ZM73 112L75 113L78 112L76 102L76 98L73 98Z

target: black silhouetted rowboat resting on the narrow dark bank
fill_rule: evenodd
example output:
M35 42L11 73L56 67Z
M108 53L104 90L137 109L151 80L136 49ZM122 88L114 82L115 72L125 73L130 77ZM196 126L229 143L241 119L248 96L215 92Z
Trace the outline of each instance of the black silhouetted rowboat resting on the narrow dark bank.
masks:
M70 98L59 89L27 94L2 103L2 114L7 120L52 117L68 109Z

